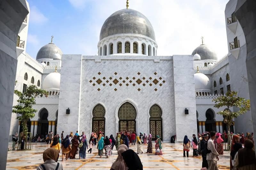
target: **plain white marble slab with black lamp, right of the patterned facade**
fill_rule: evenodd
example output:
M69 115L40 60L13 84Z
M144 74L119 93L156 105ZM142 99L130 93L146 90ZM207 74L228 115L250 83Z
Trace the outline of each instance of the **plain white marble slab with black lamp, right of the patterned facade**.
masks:
M194 66L191 55L173 55L174 108L177 141L196 134ZM185 108L189 114L185 114Z

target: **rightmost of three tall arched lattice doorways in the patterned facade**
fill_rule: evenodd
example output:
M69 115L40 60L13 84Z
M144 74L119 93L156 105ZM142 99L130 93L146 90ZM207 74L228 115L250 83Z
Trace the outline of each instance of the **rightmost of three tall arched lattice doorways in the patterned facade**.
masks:
M163 140L162 109L154 104L149 110L149 115L149 132L152 135L152 140L156 140L156 135Z

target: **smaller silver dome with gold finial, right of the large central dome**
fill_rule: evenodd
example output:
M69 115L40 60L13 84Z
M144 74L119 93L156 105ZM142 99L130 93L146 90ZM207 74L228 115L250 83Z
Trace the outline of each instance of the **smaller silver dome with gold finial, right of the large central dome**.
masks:
M211 51L209 47L205 44L199 45L193 52L192 55L199 54L201 60L218 60L218 57L215 52Z

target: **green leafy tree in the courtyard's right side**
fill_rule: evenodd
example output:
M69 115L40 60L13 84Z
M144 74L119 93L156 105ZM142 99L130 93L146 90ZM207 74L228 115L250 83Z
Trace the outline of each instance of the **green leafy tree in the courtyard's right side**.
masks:
M228 125L229 141L230 126L233 124L233 119L250 110L250 100L239 97L236 91L228 91L226 95L215 98L212 101L215 103L213 107L227 107L227 109L220 111L217 114L223 115L223 121ZM230 107L236 107L238 109L236 112L231 112L229 110Z

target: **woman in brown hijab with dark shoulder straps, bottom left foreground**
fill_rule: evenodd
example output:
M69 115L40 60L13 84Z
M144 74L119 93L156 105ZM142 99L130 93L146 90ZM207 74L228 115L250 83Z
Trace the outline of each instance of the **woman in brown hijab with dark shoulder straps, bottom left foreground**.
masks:
M43 153L44 164L37 166L37 170L62 170L62 164L57 163L59 152L54 148L48 148Z

